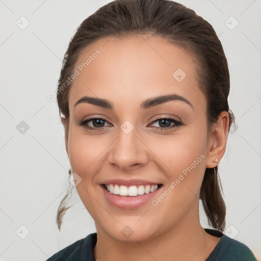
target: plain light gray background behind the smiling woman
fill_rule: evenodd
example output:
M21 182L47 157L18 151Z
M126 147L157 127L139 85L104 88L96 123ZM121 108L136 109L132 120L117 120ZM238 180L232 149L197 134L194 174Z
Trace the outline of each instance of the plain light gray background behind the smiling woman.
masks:
M0 0L0 260L46 260L95 232L76 192L61 232L57 228L56 213L68 187L70 164L58 106L47 96L56 90L61 61L75 29L106 3ZM261 2L179 3L213 25L228 59L229 104L238 129L230 132L219 164L226 234L246 244L261 260ZM20 27L26 24L21 16L30 22L24 30L16 25L16 21ZM239 22L233 30L237 21L230 16ZM16 128L21 121L29 125L24 134ZM207 227L202 210L201 224Z

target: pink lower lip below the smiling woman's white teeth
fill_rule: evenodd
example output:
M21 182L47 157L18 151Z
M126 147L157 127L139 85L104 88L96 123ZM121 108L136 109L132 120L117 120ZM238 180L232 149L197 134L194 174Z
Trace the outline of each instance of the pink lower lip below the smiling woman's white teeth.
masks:
M156 197L156 194L161 190L162 187L156 189L153 192L148 194L138 195L135 197L132 196L120 196L110 193L105 186L101 186L101 189L106 197L106 199L114 206L125 209L132 209L139 206L142 206L148 202L151 202L153 198Z

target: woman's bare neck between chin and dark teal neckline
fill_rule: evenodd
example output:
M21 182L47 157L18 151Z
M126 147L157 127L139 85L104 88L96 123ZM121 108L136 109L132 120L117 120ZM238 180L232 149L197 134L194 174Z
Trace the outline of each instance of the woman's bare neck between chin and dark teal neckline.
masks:
M220 238L211 236L201 227L198 208L194 213L182 218L171 229L161 231L159 236L141 242L116 240L96 226L95 260L205 260Z

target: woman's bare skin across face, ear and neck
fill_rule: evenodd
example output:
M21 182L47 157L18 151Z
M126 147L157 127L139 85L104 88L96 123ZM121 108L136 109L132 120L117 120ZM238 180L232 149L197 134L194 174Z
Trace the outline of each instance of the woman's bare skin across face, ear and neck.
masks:
M69 93L69 132L65 137L72 172L81 176L76 186L95 221L95 260L205 260L219 238L206 233L199 222L199 191L205 168L213 168L225 152L228 113L222 112L207 133L206 100L200 91L196 63L180 47L149 35L100 39L85 48L75 68L99 49L101 54L73 81ZM187 76L177 82L173 72ZM146 110L145 99L176 93L188 99L168 101ZM89 103L74 103L83 96L110 100L110 111ZM106 118L103 130L79 126L90 116ZM183 125L156 129L160 116ZM64 119L62 119L64 122ZM120 126L134 126L126 135ZM95 127L93 121L89 126ZM173 126L174 123L171 123ZM154 127L154 128L153 128ZM163 125L164 127L164 125ZM96 127L97 129L98 127ZM205 158L157 206L151 202L134 210L112 206L99 183L107 178L142 178L163 184L162 192L201 154ZM159 194L158 194L159 196ZM121 230L133 230L125 238Z

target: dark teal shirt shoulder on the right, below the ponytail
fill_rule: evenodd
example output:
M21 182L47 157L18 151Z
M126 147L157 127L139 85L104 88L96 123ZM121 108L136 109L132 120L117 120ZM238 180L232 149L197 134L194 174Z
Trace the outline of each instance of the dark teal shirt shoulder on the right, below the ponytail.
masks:
M256 261L257 259L246 245L224 235L206 260Z

